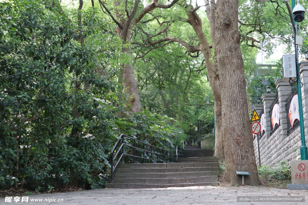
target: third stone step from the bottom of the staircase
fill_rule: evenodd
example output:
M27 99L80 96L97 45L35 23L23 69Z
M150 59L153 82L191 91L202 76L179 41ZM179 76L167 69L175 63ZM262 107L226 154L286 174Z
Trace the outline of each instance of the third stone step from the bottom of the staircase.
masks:
M149 178L149 179L174 179L191 178L202 176L220 176L219 171L195 171L195 172L176 172L176 173L114 173L116 178Z

